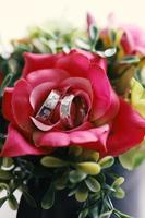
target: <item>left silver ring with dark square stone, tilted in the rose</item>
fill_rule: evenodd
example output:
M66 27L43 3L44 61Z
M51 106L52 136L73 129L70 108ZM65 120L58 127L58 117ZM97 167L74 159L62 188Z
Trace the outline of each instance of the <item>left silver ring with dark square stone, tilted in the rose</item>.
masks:
M47 121L60 101L61 94L58 90L51 90L36 114L36 119Z

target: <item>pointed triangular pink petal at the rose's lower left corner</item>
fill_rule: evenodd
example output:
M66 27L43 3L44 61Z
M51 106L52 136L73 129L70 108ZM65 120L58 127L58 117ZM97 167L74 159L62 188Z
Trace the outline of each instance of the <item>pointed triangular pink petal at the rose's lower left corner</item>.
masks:
M31 144L23 135L13 126L9 126L8 137L4 147L0 154L1 157L16 157L23 155L43 155L49 154L50 150L37 148Z

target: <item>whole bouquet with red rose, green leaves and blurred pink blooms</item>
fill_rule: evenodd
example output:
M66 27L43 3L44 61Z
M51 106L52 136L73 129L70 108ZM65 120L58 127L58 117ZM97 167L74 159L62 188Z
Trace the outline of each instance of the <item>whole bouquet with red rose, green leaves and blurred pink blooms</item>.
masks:
M0 206L17 209L20 190L34 208L73 198L70 217L130 218L113 206L125 195L114 168L145 159L145 33L87 14L87 31L48 24L11 45L0 55Z

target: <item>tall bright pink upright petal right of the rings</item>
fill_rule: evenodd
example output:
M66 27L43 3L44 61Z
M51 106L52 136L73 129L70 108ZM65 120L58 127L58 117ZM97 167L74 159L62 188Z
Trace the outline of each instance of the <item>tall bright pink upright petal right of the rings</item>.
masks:
M111 88L106 72L99 66L90 66L89 80L94 89L94 101L90 120L96 121L106 118L111 120L118 112L119 101Z

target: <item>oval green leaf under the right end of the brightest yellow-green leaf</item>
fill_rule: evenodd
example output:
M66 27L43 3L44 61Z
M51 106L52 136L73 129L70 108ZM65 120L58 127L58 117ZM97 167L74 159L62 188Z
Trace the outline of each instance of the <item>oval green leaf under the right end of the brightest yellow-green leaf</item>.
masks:
M93 178L93 177L87 178L85 180L85 183L92 192L99 192L100 191L100 184L95 178Z

